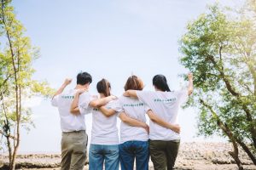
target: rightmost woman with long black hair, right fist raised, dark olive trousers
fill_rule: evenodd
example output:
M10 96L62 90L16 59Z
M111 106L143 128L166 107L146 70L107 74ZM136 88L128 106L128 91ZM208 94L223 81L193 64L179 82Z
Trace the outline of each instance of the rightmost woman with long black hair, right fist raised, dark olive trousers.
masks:
M193 75L189 73L189 88L186 90L171 91L166 77L156 75L153 78L154 92L141 90L127 90L126 97L139 99L166 122L177 123L177 112L181 104L193 92ZM149 151L155 170L173 169L180 144L180 135L160 124L154 123L149 116Z

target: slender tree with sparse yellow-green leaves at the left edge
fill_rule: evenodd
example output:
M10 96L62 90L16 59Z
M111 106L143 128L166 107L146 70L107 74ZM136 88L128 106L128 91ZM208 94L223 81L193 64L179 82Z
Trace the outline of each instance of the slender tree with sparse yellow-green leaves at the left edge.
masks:
M48 96L52 89L47 82L32 79L32 62L38 58L38 49L31 46L25 28L16 20L10 0L0 3L0 133L9 150L9 169L15 169L15 159L20 145L20 128L32 125L30 108L24 106L33 95ZM3 44L5 44L3 46Z

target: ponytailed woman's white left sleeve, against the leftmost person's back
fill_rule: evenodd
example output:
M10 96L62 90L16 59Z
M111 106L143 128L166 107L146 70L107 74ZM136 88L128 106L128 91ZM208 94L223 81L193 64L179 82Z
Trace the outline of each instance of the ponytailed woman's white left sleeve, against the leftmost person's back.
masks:
M79 111L82 115L89 114L92 111L92 107L90 107L91 100L93 100L93 96L89 93L80 94Z

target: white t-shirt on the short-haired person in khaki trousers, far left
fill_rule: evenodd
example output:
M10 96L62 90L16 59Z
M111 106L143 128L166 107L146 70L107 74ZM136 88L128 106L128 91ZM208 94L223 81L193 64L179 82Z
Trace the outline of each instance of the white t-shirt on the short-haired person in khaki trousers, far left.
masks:
M72 104L76 89L68 90L62 94L56 95L51 100L51 105L55 106L59 110L61 117L61 131L73 132L79 130L85 130L84 114L88 113L84 111L84 114L73 115L70 112L70 106Z

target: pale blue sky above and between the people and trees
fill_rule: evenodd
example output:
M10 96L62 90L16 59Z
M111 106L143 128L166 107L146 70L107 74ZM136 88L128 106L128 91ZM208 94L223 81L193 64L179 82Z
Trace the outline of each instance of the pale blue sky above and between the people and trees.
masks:
M32 45L40 48L33 63L33 78L59 88L66 77L73 78L67 89L74 88L76 75L87 71L93 77L91 94L102 78L111 82L112 94L124 92L132 74L143 79L144 90L154 90L152 77L163 74L170 88L182 88L181 74L189 71L178 59L179 39L189 21L207 11L213 0L14 0L17 19L26 27ZM223 0L236 6L240 0ZM35 127L22 130L20 153L59 153L60 118L49 99L35 97L26 102L32 107ZM179 111L182 142L225 139L196 136L197 111ZM91 116L85 117L90 140Z

